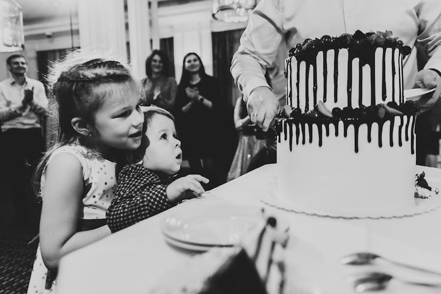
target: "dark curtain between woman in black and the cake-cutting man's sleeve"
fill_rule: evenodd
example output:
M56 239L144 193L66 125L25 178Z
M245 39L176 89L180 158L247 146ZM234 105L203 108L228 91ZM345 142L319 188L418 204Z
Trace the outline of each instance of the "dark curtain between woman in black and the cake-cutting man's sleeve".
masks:
M231 59L240 45L244 29L212 32L213 74L218 79L221 97L229 105L235 105L241 92L230 73Z

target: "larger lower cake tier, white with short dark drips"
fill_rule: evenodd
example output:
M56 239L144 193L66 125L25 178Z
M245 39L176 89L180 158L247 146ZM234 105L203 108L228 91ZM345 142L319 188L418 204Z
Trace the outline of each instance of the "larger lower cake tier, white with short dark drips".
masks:
M373 123L285 120L282 126L281 200L342 216L415 205L415 116Z

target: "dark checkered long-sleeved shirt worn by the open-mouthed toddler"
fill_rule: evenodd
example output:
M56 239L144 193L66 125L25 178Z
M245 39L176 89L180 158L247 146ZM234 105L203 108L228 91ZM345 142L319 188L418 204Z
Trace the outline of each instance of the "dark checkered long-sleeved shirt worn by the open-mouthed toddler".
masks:
M166 195L170 178L160 178L140 164L130 164L118 179L116 194L106 212L112 233L174 206Z

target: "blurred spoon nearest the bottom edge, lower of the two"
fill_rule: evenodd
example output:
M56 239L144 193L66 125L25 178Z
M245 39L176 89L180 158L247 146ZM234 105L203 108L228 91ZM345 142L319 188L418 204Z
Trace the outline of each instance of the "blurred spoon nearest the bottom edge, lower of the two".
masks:
M354 290L357 293L362 293L365 291L381 291L386 289L389 282L392 279L399 280L403 283L416 285L416 286L425 286L425 287L441 287L441 283L425 283L425 282L417 282L417 281L409 281L401 278L394 277L388 273L384 272L368 272L364 276L357 278L353 281Z

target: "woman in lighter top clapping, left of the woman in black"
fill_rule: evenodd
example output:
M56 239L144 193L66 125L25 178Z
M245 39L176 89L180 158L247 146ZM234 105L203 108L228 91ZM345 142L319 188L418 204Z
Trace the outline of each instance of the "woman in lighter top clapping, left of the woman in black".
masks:
M177 84L170 76L170 61L161 50L153 50L146 59L147 77L142 80L146 93L145 106L156 105L171 110L176 97Z

